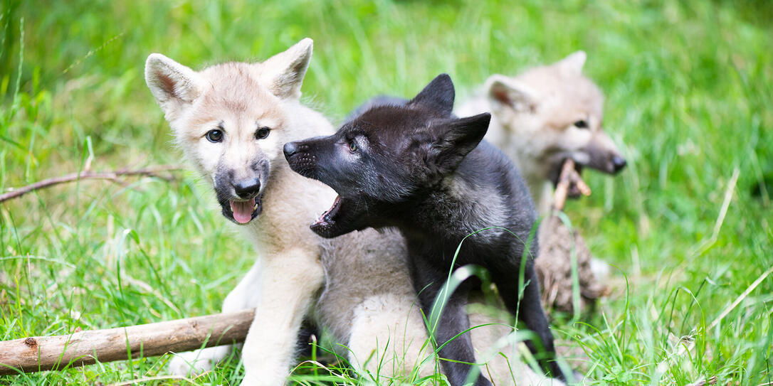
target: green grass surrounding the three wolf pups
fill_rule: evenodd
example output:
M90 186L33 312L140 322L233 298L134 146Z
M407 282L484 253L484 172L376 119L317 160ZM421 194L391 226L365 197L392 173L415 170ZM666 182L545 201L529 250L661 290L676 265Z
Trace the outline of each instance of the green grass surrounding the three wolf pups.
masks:
M598 313L557 320L555 334L584 352L573 365L601 384L773 381L773 278L731 307L773 266L768 2L4 0L0 9L0 191L78 171L88 157L97 171L178 162L143 80L151 52L202 68L312 37L305 98L338 121L368 97L413 95L441 72L463 98L491 73L584 49L629 167L618 178L586 173L594 195L567 208L594 254L618 269ZM126 181L0 204L0 339L220 309L252 262L250 246L193 174ZM168 360L0 384L159 377ZM323 378L302 373L305 384ZM237 384L241 374L234 359L193 382ZM166 383L187 384L148 382Z

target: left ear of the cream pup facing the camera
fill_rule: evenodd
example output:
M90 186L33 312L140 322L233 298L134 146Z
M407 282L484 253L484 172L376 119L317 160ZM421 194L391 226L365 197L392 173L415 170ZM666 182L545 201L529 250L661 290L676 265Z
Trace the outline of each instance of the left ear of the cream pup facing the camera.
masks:
M145 62L145 83L168 119L199 97L201 77L196 71L163 56L152 53Z

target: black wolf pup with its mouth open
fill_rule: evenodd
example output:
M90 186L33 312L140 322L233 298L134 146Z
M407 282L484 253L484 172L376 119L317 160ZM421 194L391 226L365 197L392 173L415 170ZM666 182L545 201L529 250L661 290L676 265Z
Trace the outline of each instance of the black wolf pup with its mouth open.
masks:
M376 104L332 136L285 144L292 170L339 194L311 228L327 238L367 227L400 229L414 287L429 316L459 242L478 230L502 227L468 237L456 264L488 269L508 310L536 333L552 357L553 336L533 269L536 239L523 258L536 219L533 201L507 157L481 142L489 113L459 119L451 114L453 104L454 85L441 74L413 100ZM522 268L528 285L519 303ZM438 345L469 328L465 304L474 286L465 282L451 295L438 321ZM440 354L475 362L469 334L448 342ZM471 367L453 361L443 361L444 373L451 384L464 384ZM553 361L549 366L553 375L560 374ZM478 375L475 384L490 383Z

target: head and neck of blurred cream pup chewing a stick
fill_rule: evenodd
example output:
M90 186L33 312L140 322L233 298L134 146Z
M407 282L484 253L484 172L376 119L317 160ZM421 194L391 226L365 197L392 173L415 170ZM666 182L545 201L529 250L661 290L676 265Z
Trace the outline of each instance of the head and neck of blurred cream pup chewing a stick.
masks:
M585 57L577 51L516 77L492 75L482 93L457 110L460 117L492 113L485 139L516 162L540 214L550 208L565 159L609 174L625 168L601 126L604 96L582 74Z

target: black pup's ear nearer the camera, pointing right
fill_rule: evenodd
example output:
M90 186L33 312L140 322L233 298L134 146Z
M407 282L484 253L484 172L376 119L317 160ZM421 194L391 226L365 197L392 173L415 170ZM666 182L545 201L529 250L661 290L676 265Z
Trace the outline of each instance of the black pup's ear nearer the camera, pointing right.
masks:
M432 146L434 157L428 159L441 174L455 171L461 160L480 144L489 130L490 113L446 121L433 127L438 140Z

